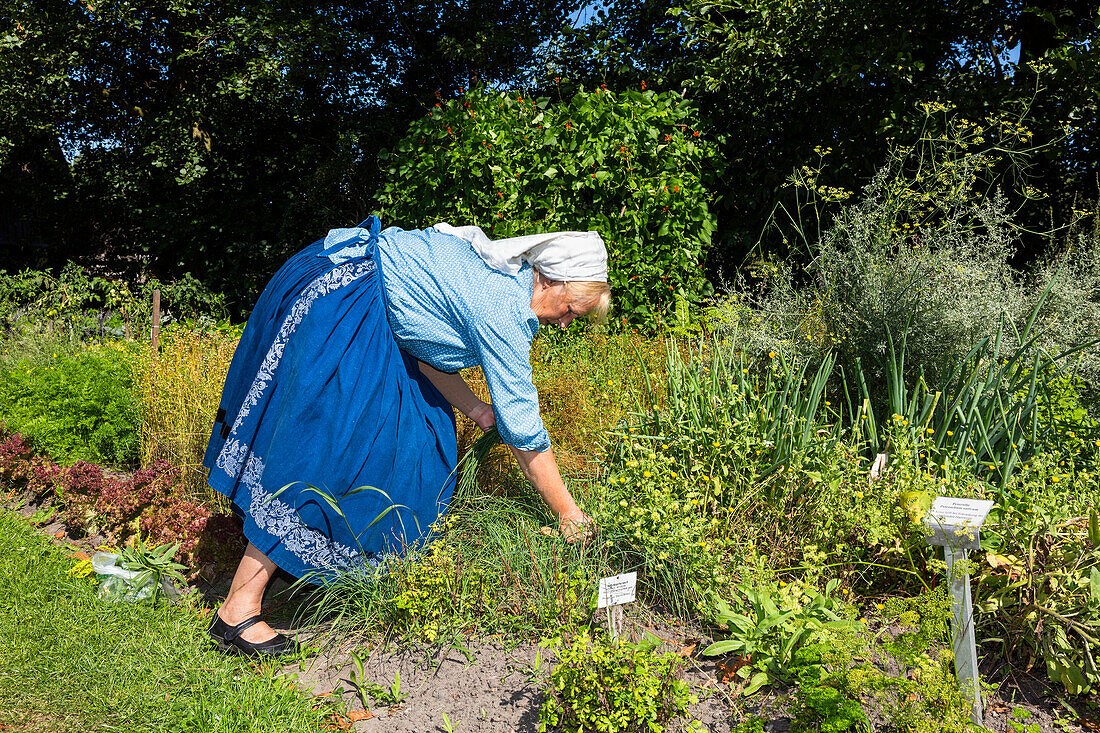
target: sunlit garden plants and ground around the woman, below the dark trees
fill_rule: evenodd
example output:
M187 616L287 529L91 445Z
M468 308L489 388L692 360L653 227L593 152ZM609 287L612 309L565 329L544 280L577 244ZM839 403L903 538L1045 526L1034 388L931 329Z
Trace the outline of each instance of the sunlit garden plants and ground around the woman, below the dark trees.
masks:
M716 12L680 22L744 61L763 26L723 35ZM827 141L785 168L734 262L748 204L716 192L751 161L706 95L760 80L713 64L700 95L437 94L378 153L383 226L605 239L609 321L543 328L531 354L596 529L564 543L460 415L426 540L271 589L293 658L206 637L245 540L202 453L256 294L229 270L0 272L0 731L1100 730L1100 215L1096 192L1044 209L1033 176L1084 133L911 105L858 185ZM242 291L278 264L253 255ZM925 533L941 496L992 501L961 567L980 721ZM631 572L613 630L601 580Z

